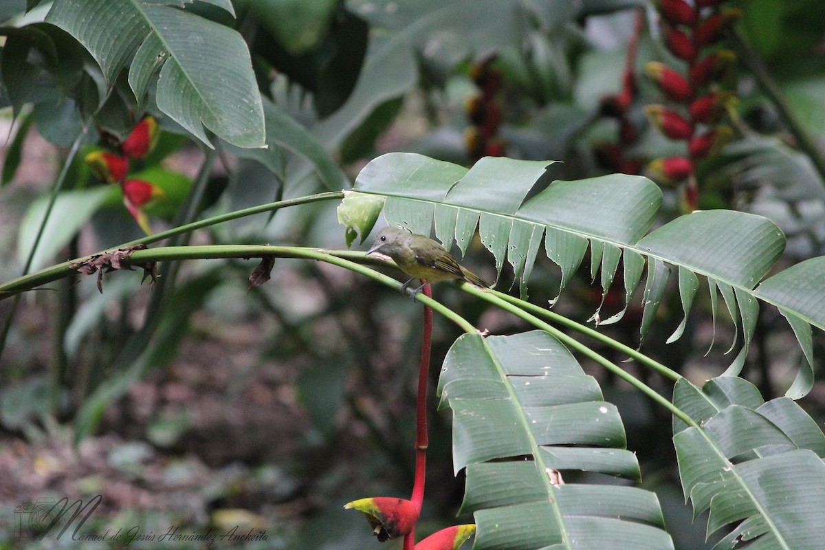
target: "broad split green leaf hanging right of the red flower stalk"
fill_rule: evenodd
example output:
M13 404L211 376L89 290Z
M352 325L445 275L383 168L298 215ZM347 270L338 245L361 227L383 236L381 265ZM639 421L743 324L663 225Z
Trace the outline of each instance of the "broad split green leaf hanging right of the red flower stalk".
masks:
M475 550L673 548L652 492L562 481L561 470L640 473L615 406L553 336L461 336L439 393L455 471L467 468Z

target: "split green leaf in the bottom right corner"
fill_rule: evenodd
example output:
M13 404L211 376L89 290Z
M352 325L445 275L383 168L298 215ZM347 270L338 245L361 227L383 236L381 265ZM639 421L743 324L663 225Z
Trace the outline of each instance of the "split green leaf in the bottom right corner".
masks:
M685 496L694 515L710 510L708 534L730 529L714 550L822 548L825 435L810 416L730 376L701 389L682 378L673 402L697 423L674 421Z

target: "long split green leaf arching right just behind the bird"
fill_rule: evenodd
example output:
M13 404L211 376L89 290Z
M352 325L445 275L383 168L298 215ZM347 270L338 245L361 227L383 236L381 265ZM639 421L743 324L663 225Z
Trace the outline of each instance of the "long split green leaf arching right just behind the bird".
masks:
M642 337L653 323L672 267L678 273L685 317L699 286L697 275L704 275L714 312L721 294L733 322L741 327L742 348L726 374L742 369L756 327L758 298L785 315L808 359L789 397L808 392L813 384L810 325L825 329L825 308L818 307L825 296L825 261L803 262L790 275L780 272L757 287L785 247L784 234L769 219L732 210L699 211L648 233L662 201L653 182L622 174L554 181L526 199L550 163L485 157L467 169L413 153L389 153L361 171L339 219L350 233L372 228L378 209L375 200L358 200L361 194L384 201L389 224L428 235L434 223L436 237L446 247L455 240L462 252L478 229L497 270L504 261L512 265L522 294L542 249L561 267L559 294L582 263L588 245L594 277L601 266L604 292L624 259L628 303L647 264ZM366 204L369 211L358 210ZM347 219L358 219L358 226ZM616 322L623 314L602 323ZM594 318L599 322L598 311ZM683 330L684 323L671 341Z

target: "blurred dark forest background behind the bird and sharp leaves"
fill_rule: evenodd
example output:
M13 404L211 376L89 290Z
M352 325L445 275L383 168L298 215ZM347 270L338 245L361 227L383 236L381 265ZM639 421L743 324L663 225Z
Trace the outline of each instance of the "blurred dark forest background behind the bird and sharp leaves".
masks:
M187 190L199 180L206 183L198 215L207 217L340 190L372 158L407 151L464 166L483 156L563 161L549 167L548 181L643 174L664 192L659 223L691 209L739 209L764 215L785 232L781 267L825 253L821 0L707 2L709 9L733 15L708 39L705 54L724 49L734 59L714 74L713 89L728 95L709 128L724 130L702 154L691 154L696 152L687 139L668 139L662 113L650 108L678 103L678 92L668 87L672 77L662 76L668 73L647 63L684 73L661 12L668 2L232 3L235 17L222 12L220 2L194 2L187 9L243 36L274 143L268 142L267 157L223 141L217 154L210 153L163 116L150 88L147 110L160 123L160 139L133 168L164 191L145 209L155 231L172 227ZM25 2L0 2L0 15L10 27L42 25L50 2L25 16L23 7ZM50 61L32 54L36 40L26 59L31 71L41 72L21 92L14 78L22 69L9 60L11 47L9 39L2 51L0 280L21 275L38 216L84 120L82 98L64 95L64 82L43 76ZM78 70L93 80L92 59L80 59ZM126 110L139 119L134 106ZM101 129L106 125L97 120L81 140L64 190L102 188L83 162L87 153L107 146ZM690 159L691 165L667 159ZM194 233L191 242L344 249L336 206L332 201L257 214ZM44 234L35 269L144 234L122 197L111 193L66 195L53 215L58 221ZM267 538L216 541L212 548L379 548L342 505L366 495L403 495L411 484L422 308L313 261L278 260L271 280L250 288L254 265L184 262L176 287L157 308L153 287L140 285L139 271L106 275L102 294L93 277L74 275L22 297L0 356L0 548L54 548L54 541L13 538L14 510L21 503L98 494L103 500L93 529L140 526L141 533L159 535L170 526L187 534L240 526L239 533L252 529ZM493 257L480 242L471 245L465 265L494 278ZM540 261L530 301L553 299L559 279L557 266ZM511 283L506 267L498 288ZM435 293L493 334L526 328L449 284L436 286ZM601 299L586 262L554 311L587 322ZM623 300L621 289L611 291L601 317L619 311ZM621 322L601 329L629 346L639 341L640 297L634 301ZM11 300L0 302L3 320L11 307ZM156 327L141 341L150 308ZM665 344L682 313L671 289L643 352L697 384L717 376L732 359L724 351L736 333L722 309L714 325L708 297L700 294L685 336ZM433 384L459 335L436 316ZM814 346L821 357L818 331ZM124 358L122 352L133 355ZM609 349L600 352L625 359ZM766 399L779 396L800 360L784 319L763 308L743 376ZM691 523L691 508L684 505L670 414L582 364L601 383L606 401L619 407L643 487L658 494L676 548L710 548L706 521ZM664 380L626 366L663 394L671 391ZM821 365L815 370L821 374ZM101 394L101 387L108 389ZM90 396L100 403L100 414L94 425L78 425L78 410ZM455 521L464 488L463 478L453 476L450 412L436 411L432 390L429 398L422 534ZM823 383L800 404L822 425ZM88 434L75 449L78 430ZM401 548L388 544L394 546L384 548ZM81 547L120 548L69 542L60 548ZM158 543L135 540L129 548ZM181 542L171 548L205 546Z

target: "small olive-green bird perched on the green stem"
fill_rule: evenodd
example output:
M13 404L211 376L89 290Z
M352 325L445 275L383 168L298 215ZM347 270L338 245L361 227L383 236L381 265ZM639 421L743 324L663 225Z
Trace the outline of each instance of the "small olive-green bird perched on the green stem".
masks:
M450 252L424 235L408 233L398 228L384 228L375 236L372 247L366 253L373 252L391 257L398 268L413 279L423 279L428 283L460 279L483 288L490 286L479 275L459 266ZM413 279L404 283L405 289ZM422 288L423 285L415 293Z

